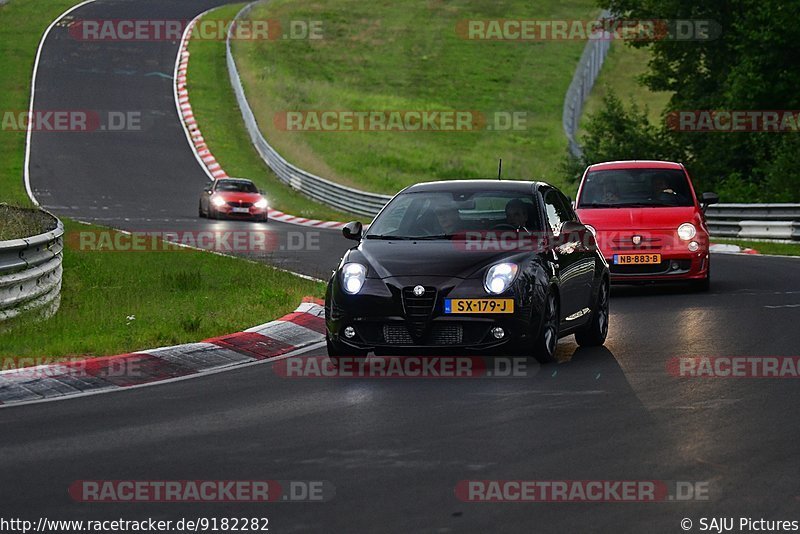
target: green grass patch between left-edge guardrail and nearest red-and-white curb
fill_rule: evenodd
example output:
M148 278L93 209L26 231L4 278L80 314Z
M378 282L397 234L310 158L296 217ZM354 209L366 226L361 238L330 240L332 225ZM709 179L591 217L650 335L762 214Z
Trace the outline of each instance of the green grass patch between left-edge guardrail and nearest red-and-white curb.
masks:
M105 230L66 221L66 232ZM113 232L113 230L107 230ZM65 241L69 241L69 238ZM195 342L293 311L324 285L189 249L64 249L61 308L41 323L3 323L3 358L102 356ZM232 283L235 280L235 283Z

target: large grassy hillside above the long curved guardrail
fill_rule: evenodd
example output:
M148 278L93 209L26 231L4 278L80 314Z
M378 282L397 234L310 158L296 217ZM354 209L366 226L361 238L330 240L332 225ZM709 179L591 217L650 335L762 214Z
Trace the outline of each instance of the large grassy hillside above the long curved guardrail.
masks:
M234 52L270 143L299 167L381 193L426 180L486 178L503 158L509 179L565 186L564 94L585 46L579 40L466 40L469 19L581 20L591 0L364 3L275 0L252 19L319 21L318 40L240 40ZM276 116L298 110L475 110L526 113L526 127L453 132L298 132ZM277 114L277 115L276 115Z

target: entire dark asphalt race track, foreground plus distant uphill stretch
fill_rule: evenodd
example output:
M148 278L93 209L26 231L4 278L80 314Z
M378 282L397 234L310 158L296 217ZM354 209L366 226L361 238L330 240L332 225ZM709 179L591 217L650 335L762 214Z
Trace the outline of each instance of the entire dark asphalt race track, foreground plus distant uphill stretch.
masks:
M73 16L191 18L214 4L100 1ZM170 80L146 76L171 73L176 50L177 43L76 43L62 28L51 32L37 109L143 109L152 124L140 133L34 134L32 185L45 207L134 230L248 224L195 216L205 174L178 122ZM312 231L321 233L319 250L262 259L324 277L347 242ZM281 533L682 532L683 518L796 520L796 379L677 378L667 364L679 356L797 356L800 260L715 255L713 265L707 294L615 287L604 348L578 349L566 338L563 363L529 363L521 377L288 379L266 363L2 409L3 516L268 517L270 531ZM77 503L67 490L86 479L324 480L335 497ZM457 499L456 484L475 479L699 481L709 499Z

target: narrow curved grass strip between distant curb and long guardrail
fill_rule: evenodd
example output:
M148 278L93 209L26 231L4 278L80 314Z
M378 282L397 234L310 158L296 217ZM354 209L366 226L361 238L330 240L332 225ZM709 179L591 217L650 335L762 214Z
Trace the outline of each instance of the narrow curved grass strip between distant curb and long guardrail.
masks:
M215 9L208 18L230 20L244 4ZM231 176L249 178L267 191L270 206L300 217L351 221L342 213L314 202L281 182L250 142L233 88L228 81L225 41L190 40L189 98L195 119L214 157ZM363 217L361 217L363 219Z

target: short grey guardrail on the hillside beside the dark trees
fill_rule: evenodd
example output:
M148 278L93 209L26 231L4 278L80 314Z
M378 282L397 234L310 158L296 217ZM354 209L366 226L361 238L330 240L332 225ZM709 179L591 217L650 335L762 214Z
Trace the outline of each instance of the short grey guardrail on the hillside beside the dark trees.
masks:
M609 11L604 10L600 13L601 19L610 17L611 13ZM597 76L600 74L600 68L606 60L609 48L611 48L611 36L608 33L604 33L602 39L590 40L586 43L581 59L575 69L575 74L572 76L572 82L569 84L567 94L564 96L564 110L561 115L561 122L569 141L569 151L576 158L583 154L581 146L575 139L581 121L581 114L583 113L583 104L589 97L589 93L594 87L594 82L597 81Z

